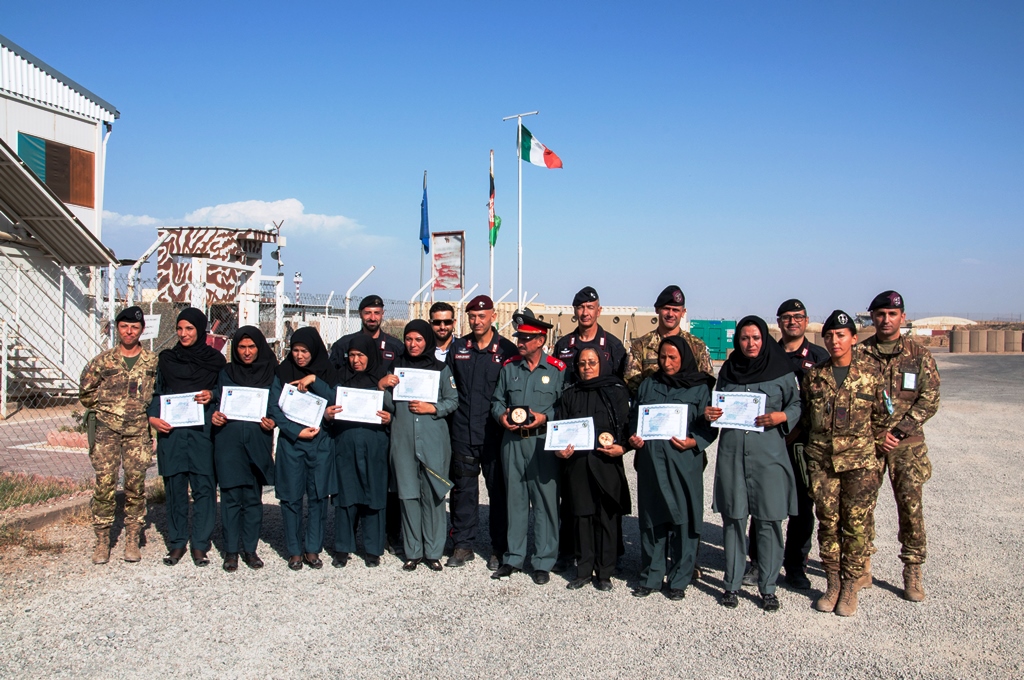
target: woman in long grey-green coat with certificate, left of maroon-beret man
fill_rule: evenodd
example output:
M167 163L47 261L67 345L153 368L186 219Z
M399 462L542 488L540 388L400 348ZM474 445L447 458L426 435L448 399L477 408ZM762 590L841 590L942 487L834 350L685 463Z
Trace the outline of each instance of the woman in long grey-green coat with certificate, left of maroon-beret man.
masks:
M401 503L402 568L412 571L424 562L440 571L447 532L444 497L452 488L445 476L452 440L444 418L459 407L459 394L452 369L434 358L430 325L414 320L403 337L406 351L380 383L394 399L391 466Z

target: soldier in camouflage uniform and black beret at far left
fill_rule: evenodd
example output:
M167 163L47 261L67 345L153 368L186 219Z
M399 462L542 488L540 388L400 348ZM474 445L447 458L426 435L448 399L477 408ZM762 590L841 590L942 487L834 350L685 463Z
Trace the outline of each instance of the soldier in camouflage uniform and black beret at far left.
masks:
M153 440L145 410L157 381L157 355L142 348L138 338L145 317L128 307L115 322L120 344L101 352L82 372L79 398L95 418L89 460L96 471L92 496L92 527L96 546L94 564L111 558L111 527L118 475L125 473L125 561L142 559L139 534L145 521L145 471L153 462ZM91 429L91 427L90 427Z

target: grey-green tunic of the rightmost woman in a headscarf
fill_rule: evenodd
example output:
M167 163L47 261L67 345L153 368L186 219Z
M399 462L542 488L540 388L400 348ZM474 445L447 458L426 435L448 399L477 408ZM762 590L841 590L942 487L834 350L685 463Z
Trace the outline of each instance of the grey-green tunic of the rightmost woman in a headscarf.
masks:
M715 466L712 510L739 519L780 521L797 514L797 480L785 435L800 421L800 387L794 374L750 385L722 385L723 392L762 392L765 413L781 411L786 421L764 432L722 429Z

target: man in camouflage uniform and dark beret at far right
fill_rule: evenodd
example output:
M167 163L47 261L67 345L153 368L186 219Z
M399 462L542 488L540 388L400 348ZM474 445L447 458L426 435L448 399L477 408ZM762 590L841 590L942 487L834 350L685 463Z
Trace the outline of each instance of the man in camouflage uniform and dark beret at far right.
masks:
M903 597L920 602L925 599L921 565L927 552L922 492L932 476L924 425L939 410L939 371L928 349L900 335L906 321L902 295L896 291L880 293L867 310L876 333L859 349L878 367L885 387L888 417L878 438L899 515Z

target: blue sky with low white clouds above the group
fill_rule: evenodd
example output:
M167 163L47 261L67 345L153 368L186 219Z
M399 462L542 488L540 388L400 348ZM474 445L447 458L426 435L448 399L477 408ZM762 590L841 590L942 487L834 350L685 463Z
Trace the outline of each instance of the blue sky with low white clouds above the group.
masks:
M409 298L434 230L515 285L691 316L1024 311L1024 5L1014 2L82 3L4 8L3 33L114 102L104 241L285 218L303 290ZM269 260L268 260L269 261Z

